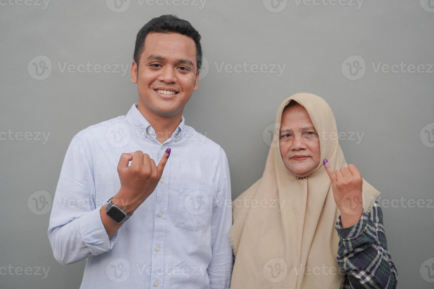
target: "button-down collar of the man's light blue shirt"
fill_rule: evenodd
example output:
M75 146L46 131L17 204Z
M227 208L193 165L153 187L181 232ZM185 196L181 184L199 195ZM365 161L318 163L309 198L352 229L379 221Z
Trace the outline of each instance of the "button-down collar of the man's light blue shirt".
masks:
M127 120L128 122L140 133L142 136L145 136L147 138L155 138L155 130L149 123L149 121L141 114L140 110L137 108L137 104L133 104L128 110L127 113ZM181 115L181 122L179 123L178 127L172 134L173 139L178 142L184 132L185 127L185 118Z

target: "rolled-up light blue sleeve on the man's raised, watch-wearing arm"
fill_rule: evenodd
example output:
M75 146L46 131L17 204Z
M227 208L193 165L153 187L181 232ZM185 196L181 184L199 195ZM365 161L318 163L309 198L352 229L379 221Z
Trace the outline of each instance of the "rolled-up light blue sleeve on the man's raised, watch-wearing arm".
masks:
M49 220L48 238L62 265L111 250L118 235L109 239L102 224L90 152L83 143L74 136L69 144Z

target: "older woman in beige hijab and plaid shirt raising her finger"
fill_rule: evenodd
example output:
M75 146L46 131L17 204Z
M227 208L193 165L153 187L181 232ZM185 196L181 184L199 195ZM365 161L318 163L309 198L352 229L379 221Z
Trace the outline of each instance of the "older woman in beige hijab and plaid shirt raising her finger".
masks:
M396 287L380 193L337 136L321 97L280 104L262 178L233 201L232 289Z

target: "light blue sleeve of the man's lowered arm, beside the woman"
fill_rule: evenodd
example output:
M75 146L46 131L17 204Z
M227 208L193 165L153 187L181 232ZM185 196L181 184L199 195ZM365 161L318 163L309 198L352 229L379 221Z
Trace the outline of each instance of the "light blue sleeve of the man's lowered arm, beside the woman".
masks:
M232 205L230 190L229 165L226 153L220 148L220 185L213 201L211 218L211 250L212 257L207 268L210 279L210 289L230 288L233 256L229 240L229 230L232 227Z

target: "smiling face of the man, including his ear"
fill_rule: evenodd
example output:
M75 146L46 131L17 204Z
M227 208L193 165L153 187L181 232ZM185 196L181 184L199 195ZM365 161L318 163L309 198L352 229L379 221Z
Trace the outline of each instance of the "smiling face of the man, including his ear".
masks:
M137 74L138 72L138 74ZM156 114L171 116L184 110L197 90L196 45L179 33L150 33L131 81L137 83L140 101Z

